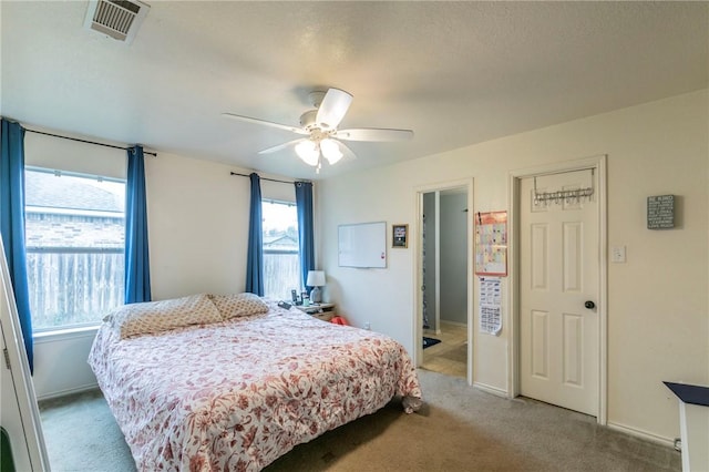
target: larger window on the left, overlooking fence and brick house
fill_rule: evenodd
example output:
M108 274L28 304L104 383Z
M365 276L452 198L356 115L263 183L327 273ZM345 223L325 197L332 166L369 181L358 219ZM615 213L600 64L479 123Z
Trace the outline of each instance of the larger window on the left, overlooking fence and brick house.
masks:
M25 167L24 199L32 328L94 325L123 305L125 181Z

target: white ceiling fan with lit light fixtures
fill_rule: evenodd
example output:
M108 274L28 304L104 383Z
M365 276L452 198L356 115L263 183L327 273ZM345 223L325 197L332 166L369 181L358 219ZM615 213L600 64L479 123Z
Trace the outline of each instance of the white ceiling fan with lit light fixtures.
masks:
M413 131L411 130L381 127L338 130L340 122L352 103L352 95L343 90L328 89L327 92L311 92L308 96L315 109L308 110L300 115L300 126L290 126L234 113L223 113L223 116L277 127L306 136L259 151L259 154L268 154L294 146L298 157L306 164L316 167L316 172L320 172L321 156L332 165L342 158L345 153L354 155L342 141L407 141L413 137Z

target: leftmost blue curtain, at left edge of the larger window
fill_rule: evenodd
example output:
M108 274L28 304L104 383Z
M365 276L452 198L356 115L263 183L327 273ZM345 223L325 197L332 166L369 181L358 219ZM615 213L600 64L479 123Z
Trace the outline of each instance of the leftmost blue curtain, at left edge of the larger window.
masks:
M0 154L0 229L24 350L32 372L34 350L24 252L24 129L19 123L2 119Z

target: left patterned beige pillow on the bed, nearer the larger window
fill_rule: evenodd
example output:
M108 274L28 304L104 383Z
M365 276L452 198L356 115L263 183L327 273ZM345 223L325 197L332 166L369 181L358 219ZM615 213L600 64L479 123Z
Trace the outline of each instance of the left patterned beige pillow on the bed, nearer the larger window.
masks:
M109 319L119 330L121 339L223 320L206 294L124 305L114 310Z

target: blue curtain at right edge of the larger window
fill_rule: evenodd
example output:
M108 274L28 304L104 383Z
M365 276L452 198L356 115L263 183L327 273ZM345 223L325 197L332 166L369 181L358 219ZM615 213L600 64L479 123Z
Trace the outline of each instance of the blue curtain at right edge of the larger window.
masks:
M125 302L151 301L151 265L147 249L147 204L143 147L129 152L125 188Z

